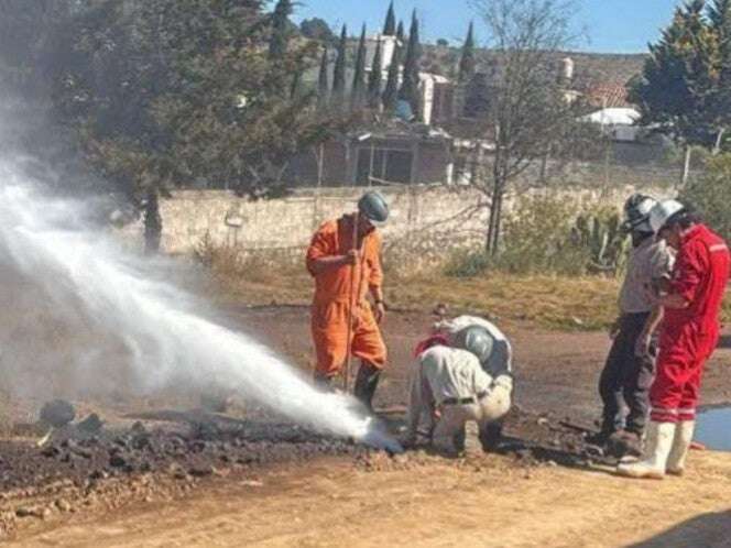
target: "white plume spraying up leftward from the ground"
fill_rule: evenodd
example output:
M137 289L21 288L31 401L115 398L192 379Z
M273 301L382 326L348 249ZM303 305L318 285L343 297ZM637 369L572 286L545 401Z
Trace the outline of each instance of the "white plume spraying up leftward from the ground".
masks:
M111 335L142 390L215 382L313 429L399 450L372 419L353 410L352 397L320 393L266 347L199 315L188 294L151 275L149 262L90 230L84 217L83 204L45 198L12 166L0 164L0 266L32 281L57 318L80 317L94 333L85 348L65 350L74 361L69 374L79 383L113 376L112 359L95 349L99 337ZM14 359L28 360L30 368L31 361L58 358L41 343L32 358L28 349L13 353L13 333L3 335L0 344L11 350L3 365Z

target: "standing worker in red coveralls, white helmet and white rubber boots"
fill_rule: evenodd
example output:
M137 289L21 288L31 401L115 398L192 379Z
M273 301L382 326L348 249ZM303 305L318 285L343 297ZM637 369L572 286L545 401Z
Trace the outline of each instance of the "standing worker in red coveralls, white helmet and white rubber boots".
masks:
M658 202L651 224L678 251L673 277L658 296L665 309L657 376L643 460L622 463L631 478L681 474L692 441L703 365L719 339L719 313L731 257L725 242L676 200Z

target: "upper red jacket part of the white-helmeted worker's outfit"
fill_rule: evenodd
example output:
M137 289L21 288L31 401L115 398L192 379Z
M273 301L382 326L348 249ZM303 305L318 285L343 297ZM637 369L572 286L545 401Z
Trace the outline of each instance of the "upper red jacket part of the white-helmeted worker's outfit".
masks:
M689 305L666 309L666 327L696 324L701 331L718 329L730 260L725 242L708 227L696 224L688 230L673 271L670 293L683 296Z

